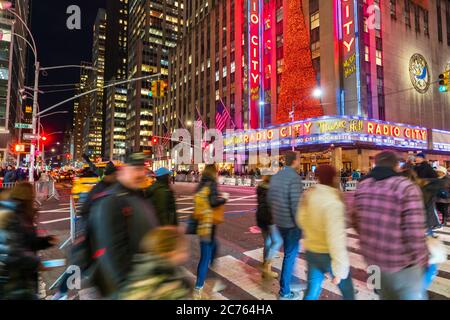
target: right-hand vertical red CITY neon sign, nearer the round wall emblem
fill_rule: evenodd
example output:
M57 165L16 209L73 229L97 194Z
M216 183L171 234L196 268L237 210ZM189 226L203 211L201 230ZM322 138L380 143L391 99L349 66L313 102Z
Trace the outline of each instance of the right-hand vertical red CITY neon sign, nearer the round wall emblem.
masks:
M344 51L344 76L356 72L354 0L341 0L342 46Z

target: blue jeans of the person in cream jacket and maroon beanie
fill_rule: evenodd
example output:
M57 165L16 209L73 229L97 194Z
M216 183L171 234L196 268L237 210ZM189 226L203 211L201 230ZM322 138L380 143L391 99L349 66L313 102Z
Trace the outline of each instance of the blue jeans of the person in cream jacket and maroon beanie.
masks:
M304 300L317 300L322 292L322 282L325 274L333 275L331 271L331 257L329 254L306 252L308 263L308 288ZM349 273L338 285L344 300L355 300L352 277Z

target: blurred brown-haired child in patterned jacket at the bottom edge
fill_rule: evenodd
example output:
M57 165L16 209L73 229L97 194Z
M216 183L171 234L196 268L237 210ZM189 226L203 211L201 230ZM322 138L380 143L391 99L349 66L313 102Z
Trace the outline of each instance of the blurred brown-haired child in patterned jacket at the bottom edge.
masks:
M122 300L185 300L192 286L181 265L188 259L188 242L173 226L159 227L142 240L133 269L119 294Z

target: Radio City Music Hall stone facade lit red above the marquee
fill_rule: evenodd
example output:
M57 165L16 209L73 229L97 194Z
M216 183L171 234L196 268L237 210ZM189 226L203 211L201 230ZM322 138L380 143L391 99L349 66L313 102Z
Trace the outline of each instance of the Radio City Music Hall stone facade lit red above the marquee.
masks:
M169 57L170 89L155 113L157 124L178 128L201 119L212 128L223 102L231 116L227 128L264 129L280 124L280 114L294 122L308 118L306 104L315 103L320 113L311 115L337 116L336 123L355 116L450 130L449 95L437 84L450 56L448 1L185 1L185 22L183 38ZM310 98L310 87L310 93L292 97L292 109L283 106L287 88L314 82L320 99ZM158 135L163 127L157 125ZM430 131L426 140L432 136ZM418 146L412 140L410 151ZM305 151L305 168L311 168L314 152L331 144L296 145ZM376 151L358 143L346 148L337 151L340 166L370 167Z

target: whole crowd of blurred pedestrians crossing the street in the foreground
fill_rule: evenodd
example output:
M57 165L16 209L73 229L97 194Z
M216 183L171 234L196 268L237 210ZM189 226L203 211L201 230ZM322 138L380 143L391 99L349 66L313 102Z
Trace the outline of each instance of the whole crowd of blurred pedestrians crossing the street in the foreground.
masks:
M182 228L170 184L173 171L158 169L156 181L149 186L146 163L140 153L130 155L120 167L109 163L101 181L80 198L82 232L72 245L69 264L81 268L83 286L95 288L98 299L208 299L211 292L224 288L218 279L207 281L218 255L217 235L229 199L218 190L217 168L207 165L202 172L194 212ZM447 169L433 169L424 154L400 167L395 153L381 152L371 172L355 174L360 182L352 208L346 208L341 174L334 167L319 166L314 173L318 184L305 192L299 169L300 155L289 151L277 171L258 172L262 182L256 188L256 222L264 245L261 276L262 280L279 278L279 299L317 300L327 278L344 299L355 299L348 227L359 234L367 265L380 270L380 286L375 290L381 299L426 299L439 263L447 259L435 236L448 219ZM57 239L37 235L32 185L17 184L1 197L0 298L36 299L37 274L45 270L37 252ZM199 242L195 281L182 268L192 256L186 234ZM300 249L305 252L307 281L293 284ZM272 263L280 250L283 263L278 275ZM67 299L70 276L67 272L61 278L54 299Z

